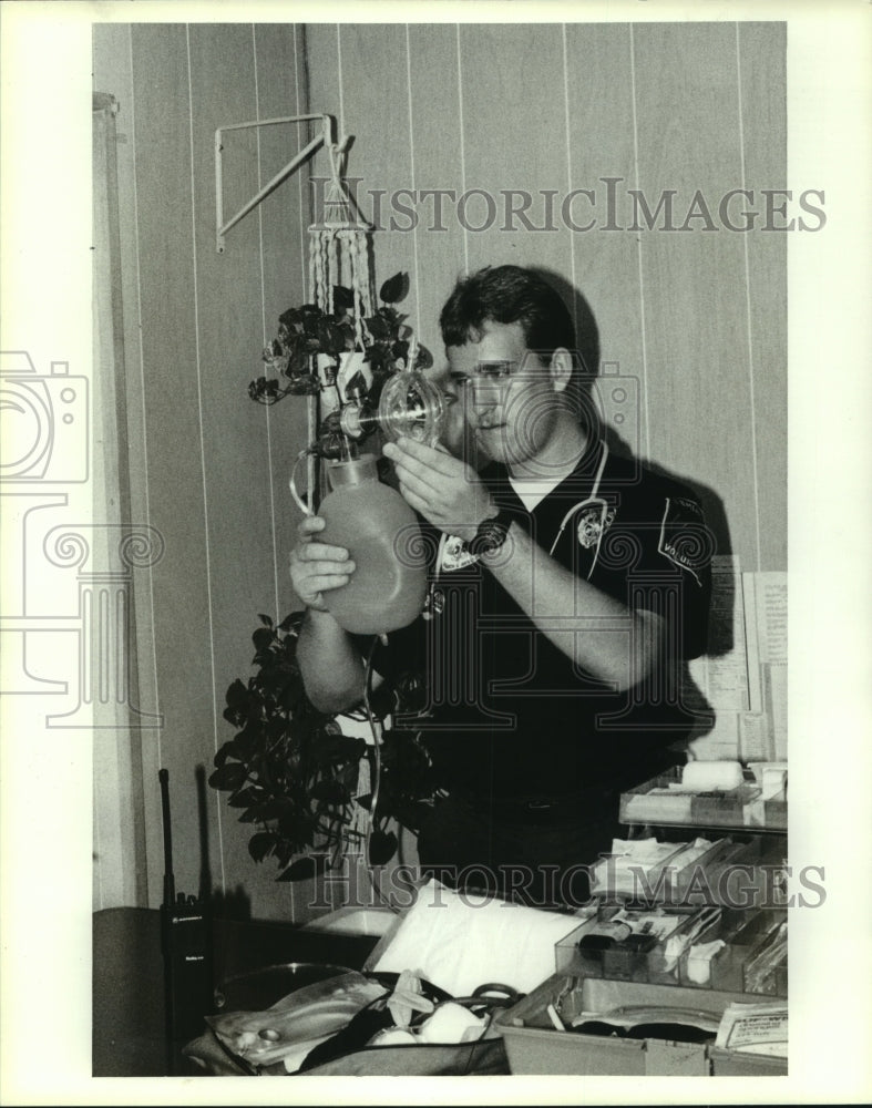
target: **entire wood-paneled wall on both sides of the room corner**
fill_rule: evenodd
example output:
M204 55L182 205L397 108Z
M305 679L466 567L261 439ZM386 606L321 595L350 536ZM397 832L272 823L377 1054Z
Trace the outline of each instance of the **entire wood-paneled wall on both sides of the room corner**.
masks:
M276 317L302 298L309 197L300 176L281 186L218 256L216 126L307 104L338 117L355 136L348 172L362 178L365 215L384 191L377 276L409 271L403 308L437 358L439 308L464 270L537 265L581 290L602 360L637 397L623 437L700 489L720 551L741 568L786 567L788 236L704 230L704 220L629 230L626 192L654 208L674 189L680 225L697 189L717 209L728 189L784 186L783 24L98 24L94 41L95 88L120 101L124 135L134 512L166 543L137 596L145 695L164 716L144 735L146 811L134 813L147 825L150 903L160 901L157 767L171 772L177 881L193 891L195 767L208 771L229 737L224 691L248 671L257 613L294 606L287 475L302 406L258 408L245 388ZM228 137L228 212L289 158L291 131ZM324 155L312 172L325 174ZM605 227L609 177L619 230ZM414 228L394 212L391 229L398 188L469 193L466 226L447 203L434 229L428 202ZM551 191L553 228L513 229L502 206L489 219L484 194L502 205L512 188ZM578 188L596 203L577 197L571 214L598 226L573 234L560 205ZM537 204L530 217L544 225ZM255 915L299 916L291 891L250 862L224 800L205 804L213 883L240 889Z

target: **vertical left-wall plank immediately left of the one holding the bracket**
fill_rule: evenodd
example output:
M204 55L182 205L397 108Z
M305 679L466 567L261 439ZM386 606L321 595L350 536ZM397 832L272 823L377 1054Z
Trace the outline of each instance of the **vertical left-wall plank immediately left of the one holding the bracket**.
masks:
M132 29L142 350L162 763L173 793L178 888L199 875L194 767L211 757L213 695L199 455L191 120L184 27ZM147 813L158 822L158 812ZM154 897L155 892L151 895Z

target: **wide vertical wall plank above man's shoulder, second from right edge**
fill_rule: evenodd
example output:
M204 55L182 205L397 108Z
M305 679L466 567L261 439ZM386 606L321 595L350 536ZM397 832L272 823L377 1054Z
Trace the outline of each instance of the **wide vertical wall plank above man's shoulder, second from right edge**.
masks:
M740 177L735 30L650 23L635 27L634 43L639 188L652 208L676 189L681 226L697 191L717 207ZM648 452L725 499L729 542L750 567L757 524L743 247L733 234L702 229L701 219L689 227L642 233ZM718 538L724 551L727 536Z

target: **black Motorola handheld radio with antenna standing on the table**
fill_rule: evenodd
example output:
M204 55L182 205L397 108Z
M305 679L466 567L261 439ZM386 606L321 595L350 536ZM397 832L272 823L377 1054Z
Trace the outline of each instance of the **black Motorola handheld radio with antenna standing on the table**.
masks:
M178 1047L203 1032L204 1016L213 1010L212 921L208 904L176 893L173 874L173 833L170 822L170 773L162 769L161 807L164 827L164 902L161 941L166 991L166 1045L168 1071L179 1070Z

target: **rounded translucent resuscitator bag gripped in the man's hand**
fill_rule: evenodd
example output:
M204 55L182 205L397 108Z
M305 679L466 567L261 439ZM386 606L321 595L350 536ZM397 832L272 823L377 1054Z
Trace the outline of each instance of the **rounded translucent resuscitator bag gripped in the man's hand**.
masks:
M362 454L327 468L331 492L318 515L318 541L345 546L355 562L347 585L324 593L340 627L382 635L407 627L424 606L427 566L421 531L402 496L378 479L376 459Z

